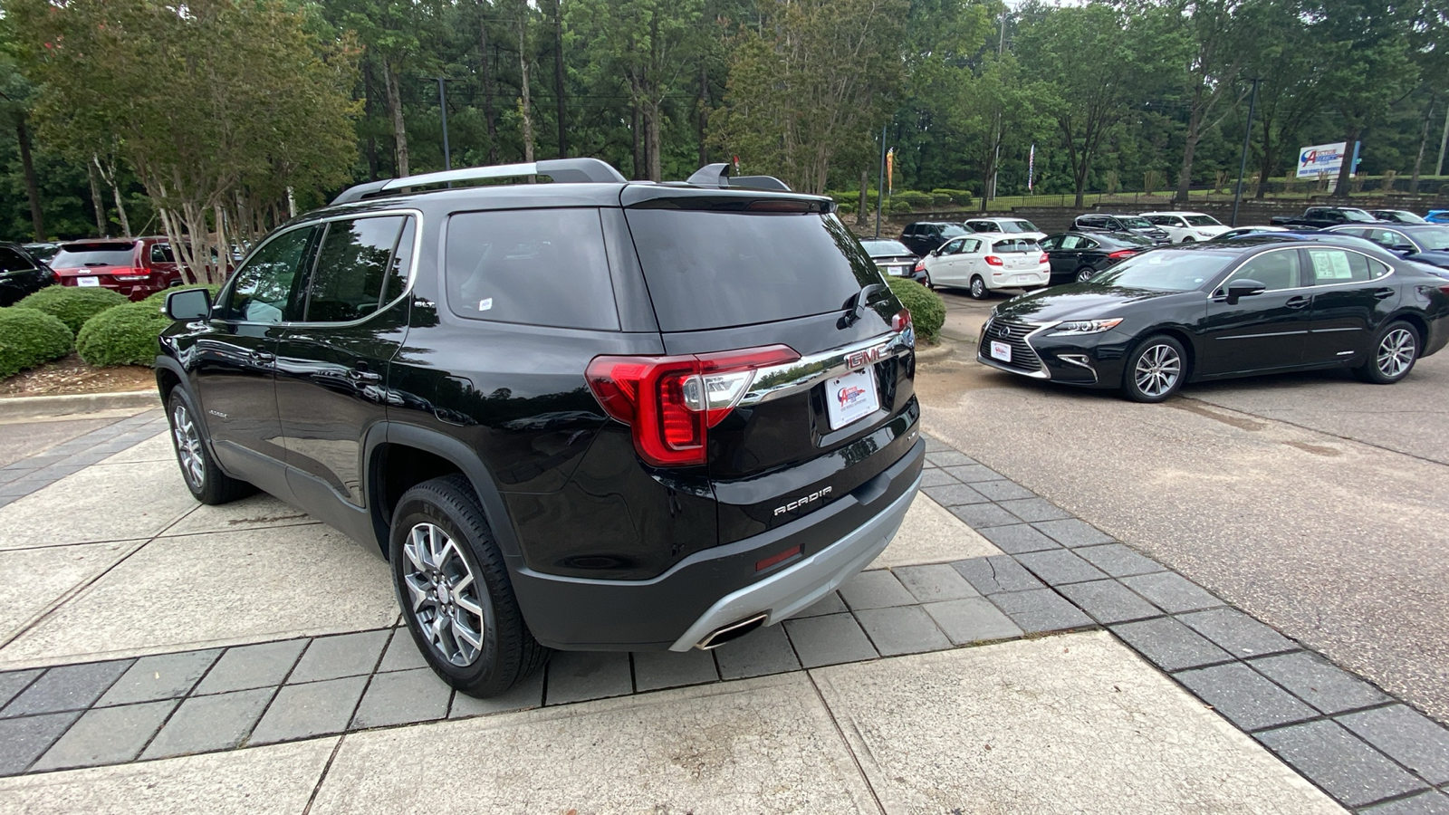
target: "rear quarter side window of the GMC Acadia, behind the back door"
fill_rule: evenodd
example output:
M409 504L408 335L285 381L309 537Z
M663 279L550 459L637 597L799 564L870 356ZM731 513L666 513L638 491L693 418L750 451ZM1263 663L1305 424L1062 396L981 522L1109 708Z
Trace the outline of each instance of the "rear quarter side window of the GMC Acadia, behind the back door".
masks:
M619 331L597 209L456 213L443 258L461 318Z

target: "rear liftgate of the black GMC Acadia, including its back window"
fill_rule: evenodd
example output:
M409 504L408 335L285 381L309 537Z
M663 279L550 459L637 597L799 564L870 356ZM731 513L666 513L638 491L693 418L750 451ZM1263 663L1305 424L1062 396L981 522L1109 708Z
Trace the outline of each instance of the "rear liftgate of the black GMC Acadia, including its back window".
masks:
M830 202L629 186L622 203L665 352L753 365L704 380L711 408L733 399L703 448L719 542L869 503L916 438L914 334Z

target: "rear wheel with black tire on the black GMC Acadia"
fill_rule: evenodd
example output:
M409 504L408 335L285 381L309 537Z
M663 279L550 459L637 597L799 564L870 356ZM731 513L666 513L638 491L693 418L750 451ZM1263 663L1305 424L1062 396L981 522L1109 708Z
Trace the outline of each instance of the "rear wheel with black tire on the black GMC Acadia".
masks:
M416 541L414 529L422 529ZM427 537L438 532L451 548ZM429 557L409 555L409 547L419 554L432 550L426 541L439 545L440 557L429 563ZM423 481L403 493L393 510L388 557L413 642L448 684L469 696L497 696L548 661L549 650L533 640L523 621L503 553L462 476ZM471 580L461 573L462 567ZM414 595L420 597L416 606ZM439 619L443 625L433 626L435 637L425 626ZM471 642L474 638L477 644Z

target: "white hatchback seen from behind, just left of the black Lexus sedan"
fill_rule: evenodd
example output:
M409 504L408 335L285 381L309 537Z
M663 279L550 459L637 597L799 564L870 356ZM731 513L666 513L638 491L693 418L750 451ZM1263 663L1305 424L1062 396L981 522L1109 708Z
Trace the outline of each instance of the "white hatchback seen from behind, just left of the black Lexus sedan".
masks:
M961 286L978 300L995 289L1039 289L1052 280L1046 252L1020 235L952 238L920 262L933 286Z

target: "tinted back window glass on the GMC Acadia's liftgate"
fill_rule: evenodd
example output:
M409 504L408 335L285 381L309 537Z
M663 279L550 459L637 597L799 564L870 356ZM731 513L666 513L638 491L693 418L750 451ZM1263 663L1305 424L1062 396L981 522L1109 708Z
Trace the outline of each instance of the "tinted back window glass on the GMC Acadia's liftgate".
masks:
M662 331L836 312L881 281L833 215L626 212Z

